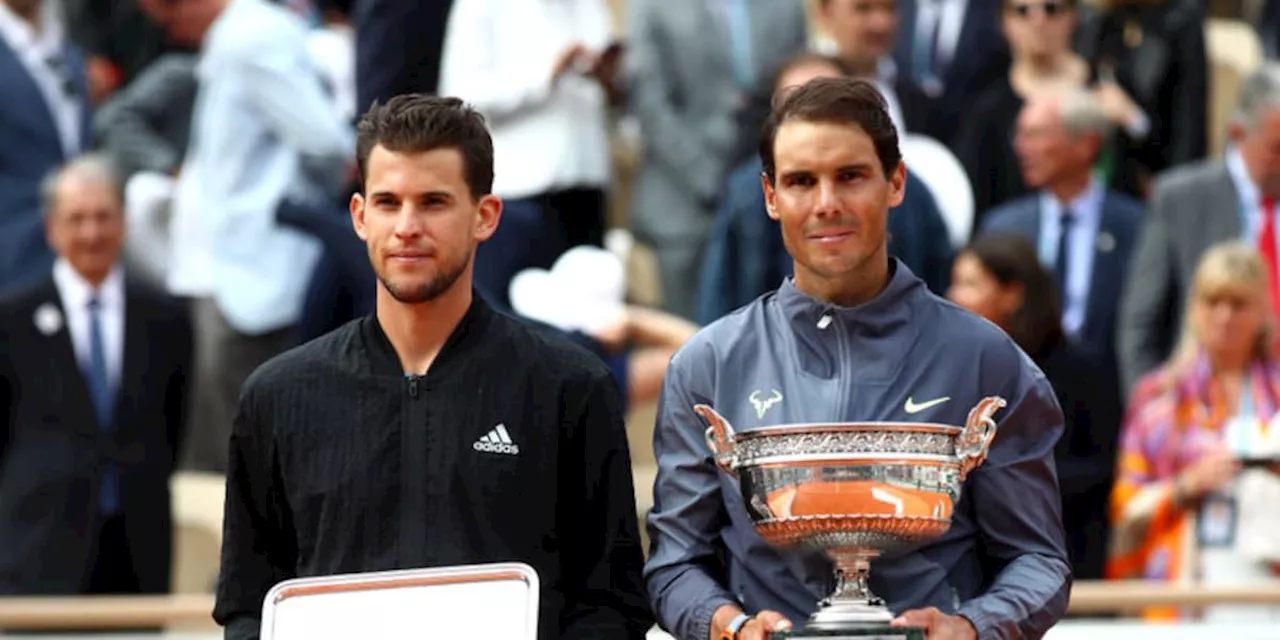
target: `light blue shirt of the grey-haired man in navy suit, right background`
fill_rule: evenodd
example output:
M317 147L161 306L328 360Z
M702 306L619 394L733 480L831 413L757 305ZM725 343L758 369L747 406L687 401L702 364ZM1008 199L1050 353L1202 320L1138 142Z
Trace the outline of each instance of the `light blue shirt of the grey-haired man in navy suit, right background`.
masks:
M1075 335L1084 326L1088 312L1089 289L1093 283L1093 259L1098 247L1115 247L1115 238L1100 237L1102 225L1102 200L1106 188L1097 178L1089 180L1089 187L1075 196L1066 206L1071 209L1071 228L1068 238L1068 273L1064 279L1066 291L1062 294L1062 329ZM1052 270L1057 265L1059 239L1062 237L1062 204L1052 193L1041 193L1041 261Z

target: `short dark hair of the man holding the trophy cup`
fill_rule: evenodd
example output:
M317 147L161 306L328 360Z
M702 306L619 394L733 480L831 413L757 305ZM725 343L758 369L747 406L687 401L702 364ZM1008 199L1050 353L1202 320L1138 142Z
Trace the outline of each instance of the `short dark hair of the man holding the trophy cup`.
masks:
M902 163L902 152L897 148L897 128L888 115L884 96L874 84L847 77L814 78L777 96L773 110L764 122L760 136L760 164L764 165L764 175L769 182L777 178L773 143L778 129L792 120L859 127L872 138L886 178Z

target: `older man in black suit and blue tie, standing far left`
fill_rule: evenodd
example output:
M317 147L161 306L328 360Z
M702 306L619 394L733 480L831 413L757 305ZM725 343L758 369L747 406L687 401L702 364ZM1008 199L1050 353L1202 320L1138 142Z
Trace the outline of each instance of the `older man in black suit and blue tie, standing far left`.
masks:
M166 593L191 321L120 269L105 160L45 193L58 260L0 302L0 594Z

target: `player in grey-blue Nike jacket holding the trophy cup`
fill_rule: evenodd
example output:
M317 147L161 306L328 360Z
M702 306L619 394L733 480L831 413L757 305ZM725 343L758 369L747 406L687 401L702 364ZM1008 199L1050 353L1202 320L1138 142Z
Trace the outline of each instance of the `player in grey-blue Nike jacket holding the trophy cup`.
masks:
M713 406L739 431L818 421L963 425L982 398L1000 396L1009 404L996 413L989 456L965 483L951 530L873 562L870 586L895 623L925 627L929 640L1042 636L1070 591L1053 470L1062 412L1052 388L1000 329L931 294L888 256L886 220L906 174L870 84L822 78L790 90L776 101L760 154L768 211L795 276L703 329L671 362L645 566L658 620L681 640L764 637L803 625L833 588L823 554L777 550L755 534L736 481L712 463L695 404Z

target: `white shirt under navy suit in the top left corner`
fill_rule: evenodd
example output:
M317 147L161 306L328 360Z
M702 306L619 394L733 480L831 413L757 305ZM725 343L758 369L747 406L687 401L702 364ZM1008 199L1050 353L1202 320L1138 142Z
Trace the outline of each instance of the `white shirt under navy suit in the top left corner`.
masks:
M67 42L61 22L55 18L56 12L46 9L42 28L36 31L29 22L13 13L8 4L0 3L0 37L22 60L40 88L40 95L45 97L44 105L31 106L49 109L63 145L63 156L76 157L82 151L84 140L83 96L78 96L78 90L73 88L74 74L65 56ZM61 69L58 68L59 64Z

